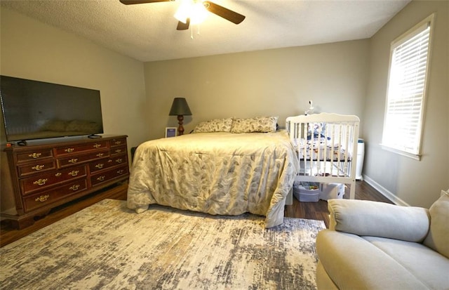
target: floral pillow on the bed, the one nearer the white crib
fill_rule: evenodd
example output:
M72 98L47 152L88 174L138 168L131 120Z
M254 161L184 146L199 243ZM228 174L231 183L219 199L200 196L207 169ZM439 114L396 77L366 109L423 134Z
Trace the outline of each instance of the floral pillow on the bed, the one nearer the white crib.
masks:
M279 117L234 118L231 133L275 132Z

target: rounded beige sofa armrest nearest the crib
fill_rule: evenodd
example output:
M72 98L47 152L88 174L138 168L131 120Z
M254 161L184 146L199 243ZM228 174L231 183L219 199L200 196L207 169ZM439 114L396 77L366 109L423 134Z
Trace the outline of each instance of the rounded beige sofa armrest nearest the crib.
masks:
M429 210L357 199L330 199L330 230L359 236L422 242L429 232Z

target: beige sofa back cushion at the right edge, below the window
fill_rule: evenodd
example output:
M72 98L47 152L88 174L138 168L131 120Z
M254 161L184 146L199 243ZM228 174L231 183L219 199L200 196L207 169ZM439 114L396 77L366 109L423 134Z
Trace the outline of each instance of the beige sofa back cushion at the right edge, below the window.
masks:
M449 194L441 197L430 206L430 230L424 244L449 258Z

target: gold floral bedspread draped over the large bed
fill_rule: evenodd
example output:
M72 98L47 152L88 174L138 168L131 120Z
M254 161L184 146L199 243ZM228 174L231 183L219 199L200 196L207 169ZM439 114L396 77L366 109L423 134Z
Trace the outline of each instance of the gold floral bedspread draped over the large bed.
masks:
M149 204L213 215L250 212L265 227L283 222L286 196L299 171L286 131L192 133L150 140L135 152L128 208Z

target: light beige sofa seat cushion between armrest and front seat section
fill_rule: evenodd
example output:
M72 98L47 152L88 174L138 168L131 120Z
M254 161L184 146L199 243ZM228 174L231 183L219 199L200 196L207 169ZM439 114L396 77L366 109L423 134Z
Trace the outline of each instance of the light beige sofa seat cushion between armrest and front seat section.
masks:
M429 289L449 286L449 275L444 275L449 273L449 259L445 256L419 243L382 237L363 238L387 253Z

